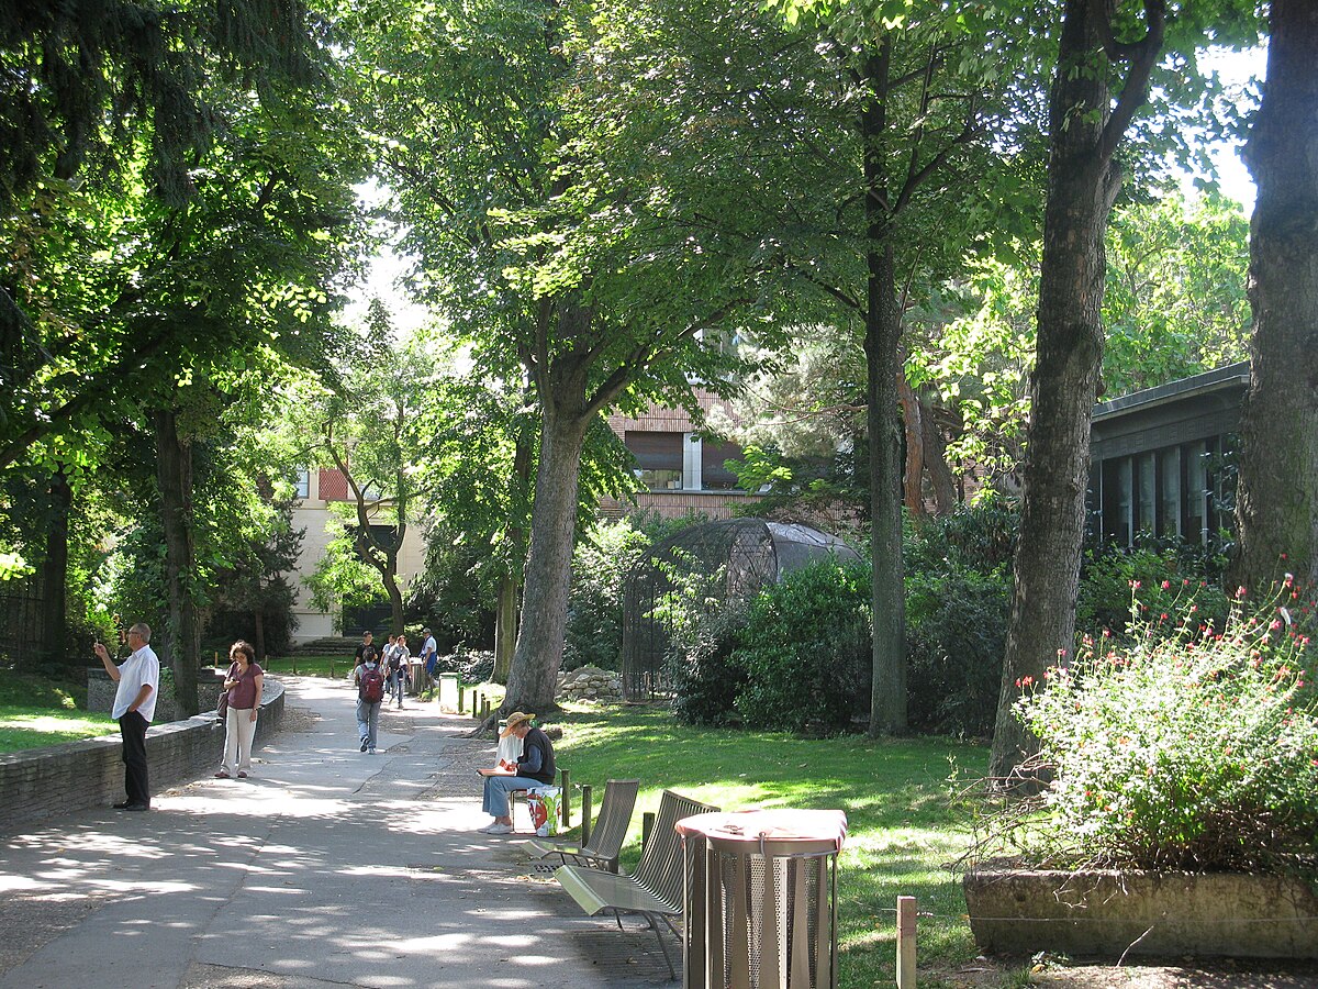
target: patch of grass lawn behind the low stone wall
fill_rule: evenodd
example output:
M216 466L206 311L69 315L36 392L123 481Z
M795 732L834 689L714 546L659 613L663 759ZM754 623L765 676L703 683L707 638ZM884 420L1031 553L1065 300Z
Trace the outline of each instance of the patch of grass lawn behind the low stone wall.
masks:
M46 676L0 671L0 752L115 734L108 713L86 709L87 688Z

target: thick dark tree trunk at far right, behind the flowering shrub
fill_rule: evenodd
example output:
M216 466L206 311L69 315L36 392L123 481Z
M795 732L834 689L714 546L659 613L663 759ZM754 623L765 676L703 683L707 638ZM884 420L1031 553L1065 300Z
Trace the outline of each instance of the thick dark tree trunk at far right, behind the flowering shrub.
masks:
M1238 584L1318 584L1318 4L1273 0L1268 79L1246 148L1249 390L1240 422Z

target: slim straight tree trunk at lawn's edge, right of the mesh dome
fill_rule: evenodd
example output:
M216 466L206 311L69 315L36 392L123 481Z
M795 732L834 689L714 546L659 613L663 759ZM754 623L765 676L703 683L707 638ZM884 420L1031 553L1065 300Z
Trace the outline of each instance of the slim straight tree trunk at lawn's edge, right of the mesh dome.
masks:
M866 59L873 94L861 116L865 148L867 280L865 311L866 402L870 434L870 547L874 556L874 670L870 734L907 729L905 595L902 587L902 311L888 216L883 141L887 128L891 42Z

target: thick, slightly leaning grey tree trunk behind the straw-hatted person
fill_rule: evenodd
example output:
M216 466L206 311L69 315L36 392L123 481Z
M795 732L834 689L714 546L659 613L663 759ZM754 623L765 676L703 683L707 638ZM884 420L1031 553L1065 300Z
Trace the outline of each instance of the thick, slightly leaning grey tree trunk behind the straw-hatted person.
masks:
M579 389L568 388L568 393ZM563 636L567 626L568 583L576 541L577 487L581 446L589 417L542 390L540 462L535 472L531 549L526 559L522 626L507 676L501 713L514 709L552 711Z

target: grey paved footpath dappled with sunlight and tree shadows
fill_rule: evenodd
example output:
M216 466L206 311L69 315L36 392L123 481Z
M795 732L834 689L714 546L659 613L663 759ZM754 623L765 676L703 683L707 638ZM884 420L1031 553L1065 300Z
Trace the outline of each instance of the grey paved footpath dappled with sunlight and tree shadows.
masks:
M471 720L390 711L370 756L348 684L283 682L290 728L253 778L0 840L0 989L667 981L642 922L583 916L517 839L476 831L494 746Z

